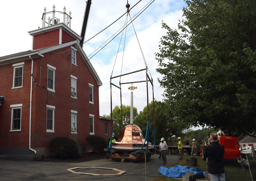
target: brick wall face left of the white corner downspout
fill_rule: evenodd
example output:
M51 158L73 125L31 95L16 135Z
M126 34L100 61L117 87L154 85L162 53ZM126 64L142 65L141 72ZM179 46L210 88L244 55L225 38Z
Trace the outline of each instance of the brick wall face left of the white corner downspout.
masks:
M22 62L24 62L22 88L12 89L13 63L0 66L0 95L5 96L4 103L0 106L0 148L23 148L29 145L31 60ZM21 131L10 132L12 110L10 105L15 104L22 104Z

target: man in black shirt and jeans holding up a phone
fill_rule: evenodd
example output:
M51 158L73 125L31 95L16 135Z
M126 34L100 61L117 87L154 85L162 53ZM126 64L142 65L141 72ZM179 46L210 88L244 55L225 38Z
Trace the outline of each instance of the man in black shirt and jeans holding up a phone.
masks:
M225 181L224 170L224 146L218 142L216 133L210 134L210 145L204 146L204 160L208 164L208 172L211 181Z

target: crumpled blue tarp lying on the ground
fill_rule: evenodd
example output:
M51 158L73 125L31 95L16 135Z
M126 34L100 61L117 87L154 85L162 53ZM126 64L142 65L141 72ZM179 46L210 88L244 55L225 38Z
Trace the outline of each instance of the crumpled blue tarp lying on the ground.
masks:
M182 177L182 175L185 175L187 172L194 172L198 177L205 177L205 172L203 172L203 170L181 165L176 165L175 167L171 168L161 166L158 171L161 174L172 178Z

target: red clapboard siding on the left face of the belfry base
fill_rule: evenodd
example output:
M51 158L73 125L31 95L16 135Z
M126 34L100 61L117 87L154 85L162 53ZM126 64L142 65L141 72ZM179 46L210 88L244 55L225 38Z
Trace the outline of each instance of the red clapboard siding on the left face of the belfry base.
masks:
M60 30L52 30L46 33L34 35L33 50L52 47L60 44Z

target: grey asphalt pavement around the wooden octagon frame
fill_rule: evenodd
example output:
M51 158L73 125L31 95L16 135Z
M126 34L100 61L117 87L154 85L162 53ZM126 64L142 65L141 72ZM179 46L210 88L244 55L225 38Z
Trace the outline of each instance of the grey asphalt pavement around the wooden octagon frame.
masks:
M172 167L172 164L179 161L178 156L167 155L166 163L159 155L152 155L150 161L132 162L99 159L87 162L50 162L50 161L29 161L29 160L8 160L0 159L0 180L1 181L42 181L42 180L102 180L102 181L150 181L153 178L160 177L158 169L161 166L166 168ZM76 174L67 169L74 167L103 167L114 168L125 171L119 176L94 176ZM118 171L109 169L76 169L76 172L94 173L94 174L116 174Z

